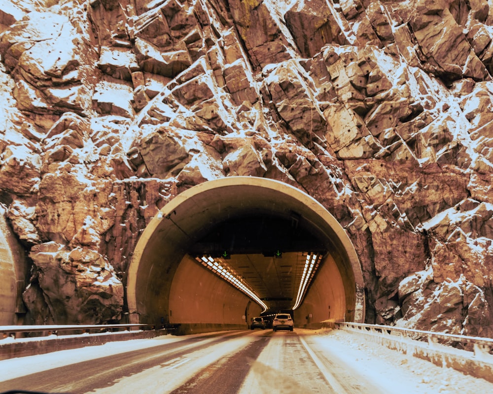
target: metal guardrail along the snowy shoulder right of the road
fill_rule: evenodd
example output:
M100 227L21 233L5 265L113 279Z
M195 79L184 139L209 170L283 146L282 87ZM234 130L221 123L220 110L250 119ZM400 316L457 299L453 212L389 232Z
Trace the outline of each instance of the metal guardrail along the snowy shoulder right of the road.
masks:
M420 341L427 341L430 346L441 343L443 345L463 344L462 350L473 351L474 355L483 358L485 355L493 354L493 338L483 338L479 336L467 336L447 334L444 332L424 331L411 328L400 328L392 326L381 326L376 324L361 324L348 322L335 322L337 328L349 328L353 331L361 331L364 333L372 333L376 335L398 336L401 338L409 338ZM467 346L469 345L469 346ZM472 349L471 346L472 345Z

